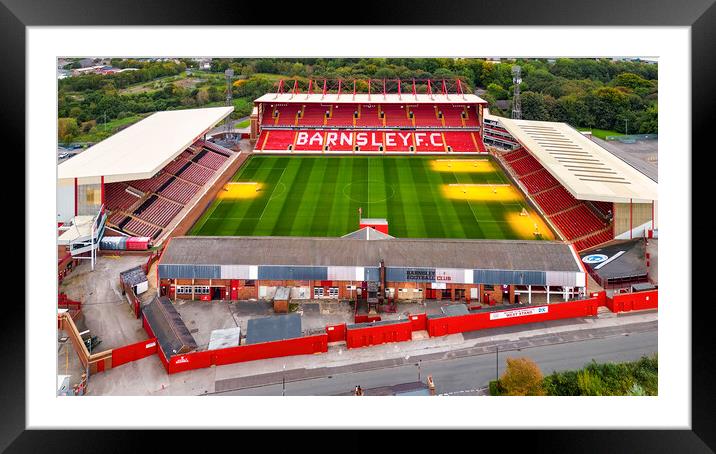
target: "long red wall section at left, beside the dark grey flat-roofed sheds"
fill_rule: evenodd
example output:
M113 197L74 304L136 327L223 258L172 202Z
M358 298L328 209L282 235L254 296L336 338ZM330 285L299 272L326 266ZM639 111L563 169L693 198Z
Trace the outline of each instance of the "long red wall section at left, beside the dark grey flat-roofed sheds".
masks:
M261 344L240 345L238 347L207 350L172 356L165 364L167 372L175 374L192 369L222 366L257 359L277 358L280 356L310 355L328 351L328 335L298 337ZM161 355L160 355L161 356Z

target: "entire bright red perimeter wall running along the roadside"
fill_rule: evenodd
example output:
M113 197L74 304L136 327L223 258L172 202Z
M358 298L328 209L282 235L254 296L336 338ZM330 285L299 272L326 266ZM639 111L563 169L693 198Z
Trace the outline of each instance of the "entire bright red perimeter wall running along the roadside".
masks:
M387 342L403 342L412 339L414 331L427 331L430 337L499 328L525 323L544 322L575 317L597 315L599 306L607 306L612 312L655 309L658 306L657 290L606 297L605 292L592 293L585 300L553 303L519 309L506 309L475 314L439 316L429 318L426 314L411 314L407 320L395 323L354 326L345 323L326 326L326 332L312 336L286 339L260 344L206 350L173 355L166 358L158 347L151 326L142 317L142 326L149 335L146 341L112 351L112 367L159 353L159 358L170 374L210 366L221 366L245 361L277 358L282 356L325 353L329 342L345 341L347 348L379 345Z

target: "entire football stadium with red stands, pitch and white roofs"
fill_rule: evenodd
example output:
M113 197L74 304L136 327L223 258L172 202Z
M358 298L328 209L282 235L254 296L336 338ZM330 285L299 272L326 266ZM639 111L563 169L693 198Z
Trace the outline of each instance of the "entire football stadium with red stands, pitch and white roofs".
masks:
M98 255L151 254L122 294L180 372L324 352L327 339L351 348L595 316L611 300L589 294L580 254L656 236L657 183L572 126L491 115L459 79L358 85L280 80L233 144L215 137L233 107L170 110L62 162L60 257L94 269ZM142 305L145 273L157 294ZM238 334L204 355L172 304L263 300L280 313L324 299L351 301L355 324L306 335L299 322L248 356L233 350L246 347ZM424 301L464 311L390 318ZM510 305L521 309L499 312ZM385 333L360 334L374 328ZM291 346L262 350L274 341Z

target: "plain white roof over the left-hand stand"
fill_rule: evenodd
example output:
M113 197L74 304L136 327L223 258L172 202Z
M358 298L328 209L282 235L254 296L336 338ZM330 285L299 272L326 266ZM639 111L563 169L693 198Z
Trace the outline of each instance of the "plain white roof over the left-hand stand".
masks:
M80 184L151 178L233 107L157 112L118 132L57 167L60 181Z

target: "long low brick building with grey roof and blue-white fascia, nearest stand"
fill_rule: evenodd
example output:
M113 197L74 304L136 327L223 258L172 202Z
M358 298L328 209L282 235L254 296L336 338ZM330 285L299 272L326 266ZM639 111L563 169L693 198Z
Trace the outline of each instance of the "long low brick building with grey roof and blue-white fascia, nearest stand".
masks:
M176 237L159 261L160 292L246 300L289 287L292 298L352 299L365 297L382 271L386 297L395 299L502 303L586 293L585 270L568 244L379 238Z

